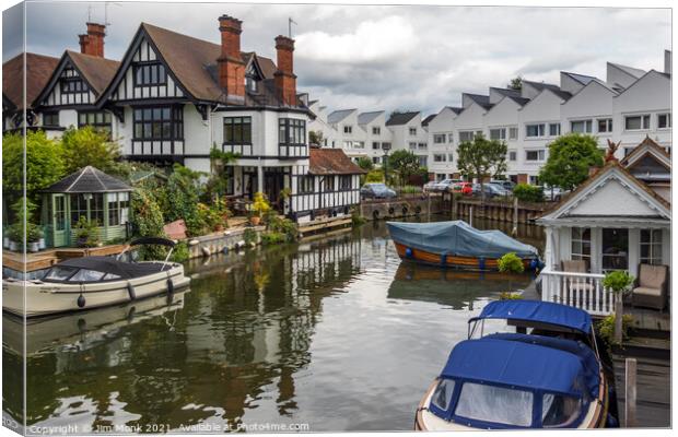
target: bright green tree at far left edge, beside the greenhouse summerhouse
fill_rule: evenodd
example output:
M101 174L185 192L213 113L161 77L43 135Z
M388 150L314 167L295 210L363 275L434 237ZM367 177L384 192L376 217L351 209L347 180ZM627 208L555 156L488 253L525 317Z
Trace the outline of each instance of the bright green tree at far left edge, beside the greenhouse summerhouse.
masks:
M47 138L44 131L27 132L26 196L37 202L39 190L45 189L65 176L61 145ZM2 191L5 204L22 197L24 188L24 139L19 133L2 139Z

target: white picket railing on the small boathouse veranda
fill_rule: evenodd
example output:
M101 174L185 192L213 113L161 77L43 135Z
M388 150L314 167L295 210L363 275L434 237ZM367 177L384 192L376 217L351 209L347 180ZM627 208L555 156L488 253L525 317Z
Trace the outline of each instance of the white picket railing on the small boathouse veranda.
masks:
M543 270L539 273L541 300L581 308L592 316L615 312L617 295L603 286L604 274Z

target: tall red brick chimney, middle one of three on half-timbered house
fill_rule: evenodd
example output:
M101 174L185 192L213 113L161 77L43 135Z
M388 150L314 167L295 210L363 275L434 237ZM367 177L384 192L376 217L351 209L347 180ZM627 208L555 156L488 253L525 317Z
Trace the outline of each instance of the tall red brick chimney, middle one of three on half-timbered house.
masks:
M245 99L245 62L241 57L241 33L243 22L229 15L219 17L221 32L221 56L219 63L219 85L227 97Z

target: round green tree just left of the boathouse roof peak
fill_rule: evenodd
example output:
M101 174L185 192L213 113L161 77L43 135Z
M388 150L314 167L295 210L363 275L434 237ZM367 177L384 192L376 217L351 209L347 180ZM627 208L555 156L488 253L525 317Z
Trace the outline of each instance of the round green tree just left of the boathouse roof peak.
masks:
M549 158L539 172L539 180L572 190L588 178L591 167L603 164L603 152L598 150L595 137L568 133L549 145Z

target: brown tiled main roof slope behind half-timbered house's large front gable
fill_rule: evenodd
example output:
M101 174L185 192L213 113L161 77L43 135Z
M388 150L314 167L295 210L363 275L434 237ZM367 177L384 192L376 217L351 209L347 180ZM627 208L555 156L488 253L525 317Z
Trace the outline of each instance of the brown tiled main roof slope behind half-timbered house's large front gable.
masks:
M221 102L224 99L223 90L219 85L217 59L221 56L221 46L204 39L179 34L149 23L141 23L141 28L149 35L160 56L176 75L182 85L197 99ZM265 83L259 91L264 96L247 94L246 104L281 105L272 86L276 63L254 52L241 52L245 63L256 58Z

